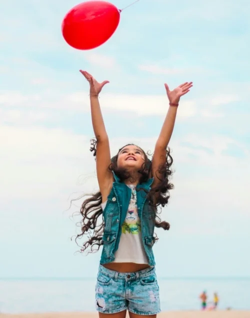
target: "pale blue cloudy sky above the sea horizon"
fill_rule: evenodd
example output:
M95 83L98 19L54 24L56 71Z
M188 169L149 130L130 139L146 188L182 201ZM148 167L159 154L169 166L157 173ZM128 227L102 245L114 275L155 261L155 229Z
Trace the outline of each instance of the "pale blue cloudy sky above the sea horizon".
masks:
M128 0L113 0L122 9ZM8 0L0 10L0 277L95 277L82 255L81 201L98 189L88 83L109 80L100 105L111 154L153 151L170 89L181 98L169 147L174 190L154 245L159 277L250 276L250 2L140 0L102 46L61 35L75 0Z

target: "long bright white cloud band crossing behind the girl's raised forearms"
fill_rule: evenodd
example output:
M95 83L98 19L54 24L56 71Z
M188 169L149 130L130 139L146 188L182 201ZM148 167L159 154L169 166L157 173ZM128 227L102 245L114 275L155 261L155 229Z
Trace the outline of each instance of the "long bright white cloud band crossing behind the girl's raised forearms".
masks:
M185 121L189 118L213 120L225 117L226 114L214 107L238 100L239 97L232 94L214 94L195 99L183 97L181 106L178 108L178 118L180 121ZM99 102L104 112L119 112L125 117L129 117L131 114L140 117L165 116L168 109L168 100L164 93L162 95L128 95L103 92L100 94ZM5 91L0 92L0 105L3 106L3 109L7 108L8 111L18 107L19 118L26 116L26 120L30 122L32 118L34 122L38 119L45 120L45 118L51 121L50 115L45 115L44 109L70 110L80 113L90 111L87 92L63 93L46 90L43 91L43 94L22 94L18 91ZM25 111L25 108L31 108L32 111ZM17 119L16 109L14 111L8 113L2 111L3 116L0 118L0 122L9 120L11 122L11 118ZM226 116L228 117L228 114Z

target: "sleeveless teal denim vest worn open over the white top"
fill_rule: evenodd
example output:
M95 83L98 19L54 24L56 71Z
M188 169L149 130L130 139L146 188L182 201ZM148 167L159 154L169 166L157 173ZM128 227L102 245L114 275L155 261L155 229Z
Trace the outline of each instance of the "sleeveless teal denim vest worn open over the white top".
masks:
M131 189L126 186L125 183L120 182L119 178L114 173L113 176L113 186L103 210L104 232L102 236L103 249L100 258L101 264L109 263L114 260L114 253L119 245L121 225L125 220L131 198ZM150 190L152 182L153 178L136 186L137 210L138 217L140 218L142 242L149 266L155 265L152 251L152 246L154 244L153 232L155 213L146 199L147 192ZM146 192L143 191L143 189L145 189Z

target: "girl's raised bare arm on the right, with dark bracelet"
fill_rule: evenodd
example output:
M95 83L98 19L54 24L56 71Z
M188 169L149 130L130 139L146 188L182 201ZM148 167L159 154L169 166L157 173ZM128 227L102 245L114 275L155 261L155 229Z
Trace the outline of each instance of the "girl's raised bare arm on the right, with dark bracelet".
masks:
M157 172L159 167L162 166L166 160L166 148L173 132L179 99L181 96L188 93L191 87L192 82L186 82L175 88L173 91L170 91L167 84L165 84L166 94L169 100L169 108L154 148L152 159L152 176L154 181L152 187L156 186L160 182L160 175Z

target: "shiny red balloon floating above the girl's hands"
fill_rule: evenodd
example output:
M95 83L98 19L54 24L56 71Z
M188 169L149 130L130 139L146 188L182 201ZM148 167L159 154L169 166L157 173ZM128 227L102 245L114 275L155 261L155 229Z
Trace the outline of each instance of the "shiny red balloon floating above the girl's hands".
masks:
M71 47L90 50L106 42L118 27L120 11L104 1L87 1L72 8L62 21L63 38Z

